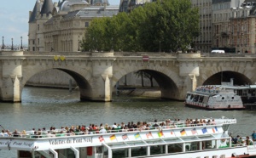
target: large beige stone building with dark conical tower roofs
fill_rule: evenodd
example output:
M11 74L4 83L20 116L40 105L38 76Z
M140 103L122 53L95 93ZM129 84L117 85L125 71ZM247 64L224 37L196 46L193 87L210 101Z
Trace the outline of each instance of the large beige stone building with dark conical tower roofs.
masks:
M29 15L30 51L79 51L79 41L94 18L112 17L119 6L108 0L37 0Z

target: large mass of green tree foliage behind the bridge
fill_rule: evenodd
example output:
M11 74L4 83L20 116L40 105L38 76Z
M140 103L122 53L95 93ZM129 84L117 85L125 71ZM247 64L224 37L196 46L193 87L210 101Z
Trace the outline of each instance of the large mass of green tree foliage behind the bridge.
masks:
M92 20L82 49L170 52L185 50L198 35L198 8L192 8L189 0L161 0L129 14Z

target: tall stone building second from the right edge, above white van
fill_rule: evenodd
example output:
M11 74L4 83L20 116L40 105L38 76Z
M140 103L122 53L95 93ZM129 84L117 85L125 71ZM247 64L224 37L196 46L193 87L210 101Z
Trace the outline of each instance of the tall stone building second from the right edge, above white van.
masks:
M240 7L241 3L241 0L212 0L212 48L234 48L230 44L230 8Z

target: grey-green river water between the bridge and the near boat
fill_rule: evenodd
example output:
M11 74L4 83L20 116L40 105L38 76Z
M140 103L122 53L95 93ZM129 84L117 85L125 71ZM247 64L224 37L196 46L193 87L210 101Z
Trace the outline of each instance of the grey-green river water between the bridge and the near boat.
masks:
M184 107L183 102L115 96L113 102L80 102L79 91L67 89L25 87L21 103L0 104L0 125L14 131L32 128L70 127L95 123L120 123L122 121L163 121L174 118L214 117L236 118L230 126L233 135L251 135L256 130L256 110L207 111ZM0 158L16 158L12 150L0 150Z

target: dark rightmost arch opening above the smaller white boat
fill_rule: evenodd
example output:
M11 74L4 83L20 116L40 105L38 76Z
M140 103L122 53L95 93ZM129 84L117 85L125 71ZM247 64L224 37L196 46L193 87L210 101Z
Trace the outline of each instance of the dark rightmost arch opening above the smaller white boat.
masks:
M233 78L234 85L246 85L253 84L247 76L234 72L234 71L221 71L212 76L210 76L203 85L220 85L221 82L230 82L230 79Z

